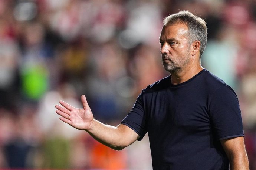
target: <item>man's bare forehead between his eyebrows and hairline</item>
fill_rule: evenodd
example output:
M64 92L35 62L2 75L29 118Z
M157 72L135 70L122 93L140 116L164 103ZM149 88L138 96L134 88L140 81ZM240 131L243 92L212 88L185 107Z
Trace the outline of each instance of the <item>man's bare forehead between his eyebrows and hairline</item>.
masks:
M184 39L187 38L188 27L182 23L176 23L172 25L163 26L160 39Z

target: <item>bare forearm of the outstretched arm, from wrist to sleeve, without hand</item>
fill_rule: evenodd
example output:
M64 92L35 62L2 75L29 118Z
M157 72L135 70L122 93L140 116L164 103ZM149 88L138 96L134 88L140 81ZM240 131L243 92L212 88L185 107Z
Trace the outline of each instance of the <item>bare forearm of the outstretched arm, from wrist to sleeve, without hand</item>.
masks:
M115 127L105 125L94 119L86 132L88 132L98 142L111 147L112 149L122 150L124 147L131 145L137 139L137 137L133 137L134 134L130 135L125 133L125 129L122 126L125 125Z

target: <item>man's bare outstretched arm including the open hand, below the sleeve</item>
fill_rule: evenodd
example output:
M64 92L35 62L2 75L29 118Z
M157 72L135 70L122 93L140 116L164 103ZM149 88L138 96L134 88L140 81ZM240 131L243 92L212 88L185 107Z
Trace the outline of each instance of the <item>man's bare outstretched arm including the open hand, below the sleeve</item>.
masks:
M94 139L115 150L121 150L134 143L140 136L126 125L105 125L93 118L91 109L86 101L85 95L81 96L82 109L70 106L64 101L56 105L56 113L60 120L79 130L85 130Z

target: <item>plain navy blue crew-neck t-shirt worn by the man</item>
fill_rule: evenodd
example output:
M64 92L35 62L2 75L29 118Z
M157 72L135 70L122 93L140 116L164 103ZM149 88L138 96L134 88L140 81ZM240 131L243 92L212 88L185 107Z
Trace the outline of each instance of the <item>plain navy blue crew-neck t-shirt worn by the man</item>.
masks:
M233 89L203 69L178 85L149 85L121 122L141 140L148 133L153 169L228 170L220 140L244 136Z

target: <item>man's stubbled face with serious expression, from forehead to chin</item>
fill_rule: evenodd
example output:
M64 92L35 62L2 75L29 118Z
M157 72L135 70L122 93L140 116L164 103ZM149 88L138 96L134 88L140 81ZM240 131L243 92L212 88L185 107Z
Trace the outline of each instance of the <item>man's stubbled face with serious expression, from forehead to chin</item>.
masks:
M164 26L159 40L162 62L166 71L177 72L190 63L191 52L186 25L177 23Z

